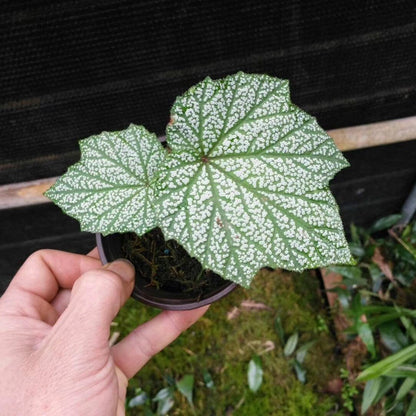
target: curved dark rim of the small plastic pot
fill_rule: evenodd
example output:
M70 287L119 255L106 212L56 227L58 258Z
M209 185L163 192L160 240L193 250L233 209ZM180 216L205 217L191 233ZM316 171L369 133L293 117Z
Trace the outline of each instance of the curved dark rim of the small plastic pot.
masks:
M101 233L96 233L95 238L97 242L98 253L100 260L103 264L108 263L107 254L103 244L103 239L109 236L103 236ZM202 306L210 305L211 303L227 296L230 292L236 289L239 285L232 281L227 281L224 286L221 286L214 290L211 295L197 300L195 298L169 298L164 297L163 293L168 294L168 291L156 291L156 290L140 290L137 285L134 286L131 297L148 306L152 306L158 309L172 310L172 311L185 311L200 308ZM153 292L153 293L152 293ZM160 295L158 295L160 293Z

